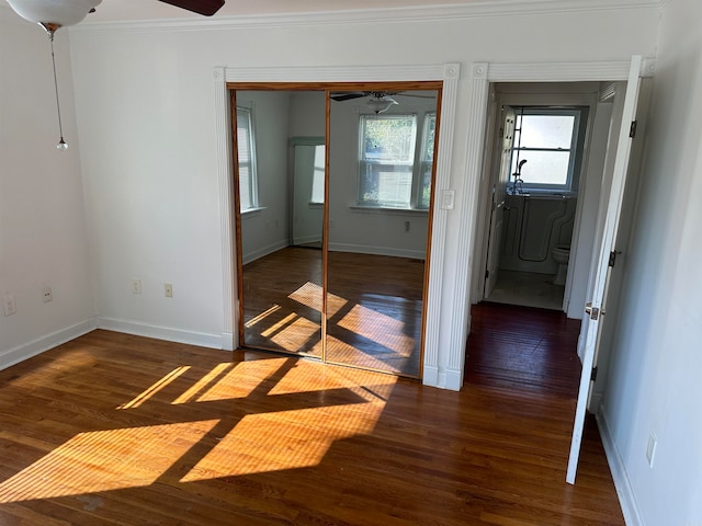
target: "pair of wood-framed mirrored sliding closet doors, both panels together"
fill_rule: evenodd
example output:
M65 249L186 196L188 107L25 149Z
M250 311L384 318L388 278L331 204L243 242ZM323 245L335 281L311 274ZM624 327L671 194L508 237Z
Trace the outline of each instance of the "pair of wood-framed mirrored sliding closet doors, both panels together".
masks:
M421 378L441 83L229 89L239 346Z

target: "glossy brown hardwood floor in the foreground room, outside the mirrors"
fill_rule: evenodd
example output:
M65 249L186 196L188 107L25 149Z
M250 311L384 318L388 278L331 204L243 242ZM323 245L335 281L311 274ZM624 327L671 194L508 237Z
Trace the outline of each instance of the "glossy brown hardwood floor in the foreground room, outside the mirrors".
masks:
M0 371L0 524L623 525L592 426L565 483L561 381L474 362L452 392L94 331Z

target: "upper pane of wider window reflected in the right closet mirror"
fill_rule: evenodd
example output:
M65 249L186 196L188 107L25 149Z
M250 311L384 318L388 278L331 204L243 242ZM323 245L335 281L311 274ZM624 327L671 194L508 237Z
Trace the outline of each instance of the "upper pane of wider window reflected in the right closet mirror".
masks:
M414 116L364 116L362 158L366 161L412 162Z

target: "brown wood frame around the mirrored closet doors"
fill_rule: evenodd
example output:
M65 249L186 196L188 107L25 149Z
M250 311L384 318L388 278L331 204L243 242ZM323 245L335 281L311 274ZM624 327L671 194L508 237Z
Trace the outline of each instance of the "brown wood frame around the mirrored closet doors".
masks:
M435 124L435 137L434 137L434 162L432 163L431 171L431 199L428 209L428 229L427 229L427 242L426 242L426 259L424 259L424 273L422 284L422 313L421 313L421 336L419 344L419 374L417 377L411 375L398 375L409 376L412 378L422 379L423 365L424 365L424 343L427 332L427 300L429 296L429 271L431 265L431 240L432 240L432 224L433 211L437 201L437 159L439 155L439 137L441 134L441 106L442 106L442 93L443 81L393 81L393 82L227 82L226 84L229 94L230 104L230 129L231 129L231 152L233 152L233 171L234 182L231 184L234 210L233 216L235 220L235 252L236 268L237 268L237 299L238 299L238 347L239 348L257 348L248 346L245 342L245 321L244 321L244 262L241 253L241 211L240 211L240 196L239 196L239 162L238 162L238 148L237 148L237 104L236 92L237 91L320 91L325 92L325 206L324 206L324 224L322 224L322 310L321 310L321 362L327 363L327 278L328 278L328 250L329 250L329 136L330 136L330 112L331 112L331 92L338 91L412 91L412 90L431 90L437 91L437 124ZM265 350L270 351L270 350ZM285 354L298 355L298 353ZM346 365L342 363L333 363L335 365ZM388 370L353 366L354 368L363 368L367 370L396 374Z

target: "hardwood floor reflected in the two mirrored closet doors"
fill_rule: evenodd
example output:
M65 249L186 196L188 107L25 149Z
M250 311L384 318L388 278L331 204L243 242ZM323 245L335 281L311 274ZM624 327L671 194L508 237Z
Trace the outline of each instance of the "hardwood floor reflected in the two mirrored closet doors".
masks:
M329 252L327 355L419 377L424 264ZM247 346L321 357L321 251L287 247L244 267Z

